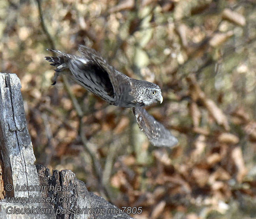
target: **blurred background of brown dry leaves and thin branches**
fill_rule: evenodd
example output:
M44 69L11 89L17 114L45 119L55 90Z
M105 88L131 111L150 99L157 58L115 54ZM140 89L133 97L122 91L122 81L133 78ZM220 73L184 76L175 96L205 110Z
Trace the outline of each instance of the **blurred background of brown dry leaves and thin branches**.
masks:
M253 0L1 0L0 70L22 84L37 162L71 169L138 219L256 218ZM179 140L150 145L131 110L58 78L46 48L93 47L159 85L147 108ZM136 212L136 208L133 208Z

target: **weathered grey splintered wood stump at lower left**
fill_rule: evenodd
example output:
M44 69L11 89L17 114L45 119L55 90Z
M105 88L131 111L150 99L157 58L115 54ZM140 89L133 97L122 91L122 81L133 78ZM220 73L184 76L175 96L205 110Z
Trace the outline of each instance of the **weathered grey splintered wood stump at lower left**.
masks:
M128 218L131 217L92 192L71 170L34 165L20 80L0 73L0 164L5 199L0 219L8 218Z

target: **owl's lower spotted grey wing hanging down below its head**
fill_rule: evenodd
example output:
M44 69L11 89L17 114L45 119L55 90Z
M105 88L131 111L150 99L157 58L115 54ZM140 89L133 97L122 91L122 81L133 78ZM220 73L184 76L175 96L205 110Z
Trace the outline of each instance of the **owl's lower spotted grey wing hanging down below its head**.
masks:
M150 143L154 146L173 147L178 143L175 138L161 123L142 107L133 107L133 114L136 117L138 126L142 130Z

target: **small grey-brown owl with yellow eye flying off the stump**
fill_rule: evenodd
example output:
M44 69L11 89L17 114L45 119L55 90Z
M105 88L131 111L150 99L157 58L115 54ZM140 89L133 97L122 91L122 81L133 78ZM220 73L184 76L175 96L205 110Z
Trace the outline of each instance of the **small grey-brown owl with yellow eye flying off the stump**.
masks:
M70 76L82 87L109 104L119 107L132 107L138 126L146 134L154 146L172 147L178 140L153 116L142 107L157 101L162 103L163 97L158 85L136 80L118 72L110 66L94 49L79 45L82 56L62 53L59 50L47 49L59 54L57 57L45 57L54 69L53 84L63 69L69 69Z

